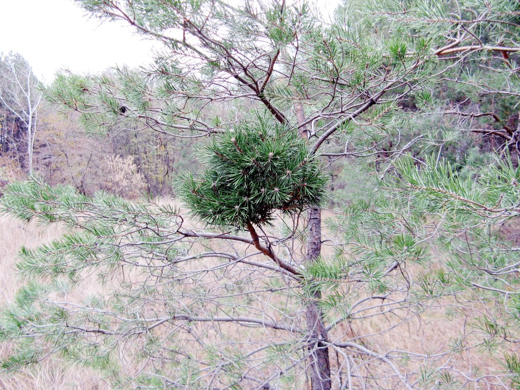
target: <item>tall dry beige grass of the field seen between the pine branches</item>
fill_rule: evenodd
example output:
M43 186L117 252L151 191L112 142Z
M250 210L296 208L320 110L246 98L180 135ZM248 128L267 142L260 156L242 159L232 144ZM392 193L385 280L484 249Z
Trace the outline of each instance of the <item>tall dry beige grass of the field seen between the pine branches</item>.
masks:
M330 216L330 215L327 215ZM193 221L189 221L188 224L192 224ZM9 301L14 298L17 288L23 283L23 280L17 275L16 263L17 253L22 245L28 248L34 248L37 245L50 242L53 239L59 238L63 233L63 228L60 226L46 226L38 227L34 224L24 224L18 220L9 219L7 217L0 217L0 306L5 306ZM197 249L197 248L196 248ZM202 248L200 248L202 249ZM251 250L249 248L235 248L241 250ZM333 243L330 245L324 245L323 254L326 256L328 253L331 254L333 251ZM259 261L261 259L258 259ZM203 263L203 264L202 264ZM199 266L216 266L218 260L213 258L201 259L198 262L193 262L189 267L197 268ZM189 271L189 269L186 269ZM410 277L413 277L415 272L420 273L423 269L410 267ZM114 283L117 283L119 277L114 276ZM136 275L122 275L126 278L136 278ZM101 284L96 280L95 275L90 275L77 286L68 296L68 301L81 301L81 298L86 294L95 294L108 292L104 291L107 287L101 287ZM80 293L81 292L81 293ZM276 308L278 304L285 304L283 300L277 302L277 297L271 297L269 306ZM260 306L264 303L258 301ZM256 303L252 303L252 307L256 306ZM262 307L258 307L258 310ZM478 311L483 313L487 312L486 307L474 307L474 310L467 310L466 315L448 316L451 306L457 306L456 302L444 302L440 303L437 308L431 309L423 313L421 316L414 317L406 324L406 326L397 326L395 330L384 332L384 329L388 329L391 319L383 316L371 317L362 323L363 329L356 329L353 327L347 327L342 324L331 331L331 339L334 341L355 341L365 344L366 335L378 335L380 336L371 337L371 344L367 345L375 350L414 350L424 354L432 354L443 348L446 344L449 344L450 340L453 342L457 340L459 335L468 332L467 324L471 321L472 316L478 314ZM369 314L369 313L367 313ZM403 317L406 317L406 313L402 313ZM276 318L274 318L276 320ZM393 319L395 320L395 319ZM392 320L392 321L393 321ZM167 324L164 324L164 329L157 330L158 332L167 332ZM236 340L240 340L241 336L244 340L256 339L258 342L266 342L269 340L275 340L276 334L269 334L269 332L263 332L266 330L257 329L250 331L248 334L241 333L243 329L236 326L236 324L225 324L219 328L220 332L233 334ZM211 332L209 332L211 335ZM214 335L218 337L218 335ZM267 339L265 339L267 337ZM375 344L374 344L375 343ZM0 357L5 356L11 348L8 343L0 344ZM132 353L126 350L120 356L122 366L126 372L133 372L138 369L138 363L134 362L131 355ZM331 355L332 358L332 355ZM458 366L465 367L470 371L475 369L485 376L488 372L493 372L499 367L496 363L492 363L489 359L489 355L482 353L477 348L470 349L458 356ZM332 358L332 360L334 360ZM124 362L123 362L124 361ZM332 365L334 366L334 361ZM36 365L32 368L20 371L16 374L4 375L0 378L0 390L105 390L110 387L103 379L100 374L81 366L71 366L69 363L60 360L59 357L51 357L43 361L40 365ZM492 389L493 386L489 387L475 387L475 388L488 388Z

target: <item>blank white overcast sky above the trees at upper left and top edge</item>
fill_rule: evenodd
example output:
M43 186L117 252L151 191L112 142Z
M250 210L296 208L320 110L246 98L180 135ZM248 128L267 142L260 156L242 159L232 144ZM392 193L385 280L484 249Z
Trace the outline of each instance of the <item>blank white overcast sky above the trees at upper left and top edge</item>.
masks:
M325 12L337 4L316 0ZM116 64L146 65L153 49L127 25L88 19L72 0L0 0L0 52L20 53L45 83L62 68L98 73Z

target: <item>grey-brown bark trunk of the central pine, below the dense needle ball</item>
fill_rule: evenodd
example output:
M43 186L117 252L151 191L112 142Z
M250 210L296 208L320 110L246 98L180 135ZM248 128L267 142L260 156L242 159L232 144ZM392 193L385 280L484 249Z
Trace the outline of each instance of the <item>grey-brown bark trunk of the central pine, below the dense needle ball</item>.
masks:
M309 240L307 243L306 262L313 262L321 253L321 210L313 207L309 210ZM321 298L320 291L314 297ZM306 308L307 331L310 353L310 383L312 390L330 390L330 360L327 329L323 323L323 313L316 302Z

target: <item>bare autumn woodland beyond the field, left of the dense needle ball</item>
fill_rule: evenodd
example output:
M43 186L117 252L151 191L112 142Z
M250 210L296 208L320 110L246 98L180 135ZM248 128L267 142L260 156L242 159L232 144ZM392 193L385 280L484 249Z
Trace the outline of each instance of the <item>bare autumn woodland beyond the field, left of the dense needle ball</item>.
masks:
M21 56L7 54L2 58L4 98L2 103L2 168L0 190L7 183L21 179L32 170L51 184L70 184L85 194L105 189L128 199L135 199L147 191L153 196L171 192L172 172L187 169L193 163L187 146L189 140L162 139L153 132L122 131L114 127L102 136L84 131L77 115L63 115L46 101L35 104L36 132L32 155L28 150L28 124L24 122L21 104L23 90L28 88L34 97L41 96L41 85L32 74L31 65ZM12 80L15 72L31 72L18 89ZM113 74L112 76L115 77ZM28 81L26 83L26 81ZM13 93L9 94L12 89ZM9 108L11 107L12 110ZM177 145L174 143L177 142ZM30 162L32 159L32 162ZM180 165L179 165L180 164ZM112 172L105 175L105 169Z

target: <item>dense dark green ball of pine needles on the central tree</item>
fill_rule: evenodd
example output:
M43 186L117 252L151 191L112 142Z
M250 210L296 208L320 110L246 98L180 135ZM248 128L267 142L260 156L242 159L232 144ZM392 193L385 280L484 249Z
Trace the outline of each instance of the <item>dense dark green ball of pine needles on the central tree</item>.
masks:
M200 177L186 174L177 192L210 225L269 224L324 198L328 178L294 129L259 119L214 138L202 150Z

